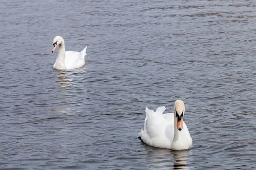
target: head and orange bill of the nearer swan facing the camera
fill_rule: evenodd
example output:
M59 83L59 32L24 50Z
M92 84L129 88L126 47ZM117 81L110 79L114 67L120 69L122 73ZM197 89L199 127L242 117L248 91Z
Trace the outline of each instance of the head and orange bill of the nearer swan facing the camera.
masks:
M176 100L174 105L174 115L177 120L177 129L182 130L183 128L183 116L185 112L185 105L183 101Z

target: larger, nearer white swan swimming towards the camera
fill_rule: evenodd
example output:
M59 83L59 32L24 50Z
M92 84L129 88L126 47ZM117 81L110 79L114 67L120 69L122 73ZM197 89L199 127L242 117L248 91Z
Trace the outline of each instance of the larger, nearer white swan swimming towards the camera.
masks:
M183 122L185 106L183 101L176 100L174 113L163 114L165 107L151 111L146 108L144 130L139 133L143 142L154 147L172 150L188 149L192 145L189 130Z

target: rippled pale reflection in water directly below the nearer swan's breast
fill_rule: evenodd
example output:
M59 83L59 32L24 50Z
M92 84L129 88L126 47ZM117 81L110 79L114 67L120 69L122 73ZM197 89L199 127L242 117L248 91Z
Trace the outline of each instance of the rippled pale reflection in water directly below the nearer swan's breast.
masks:
M186 161L189 156L189 150L172 150L175 163L173 165L173 170L189 170L190 168L186 166Z

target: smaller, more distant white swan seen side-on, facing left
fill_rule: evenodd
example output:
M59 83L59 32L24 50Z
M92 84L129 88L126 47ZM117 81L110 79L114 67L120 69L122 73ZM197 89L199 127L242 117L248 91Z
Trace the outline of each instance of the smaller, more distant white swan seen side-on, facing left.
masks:
M64 39L61 36L56 36L53 39L52 53L57 46L59 46L59 52L53 68L56 70L70 70L84 66L87 46L81 52L65 51Z

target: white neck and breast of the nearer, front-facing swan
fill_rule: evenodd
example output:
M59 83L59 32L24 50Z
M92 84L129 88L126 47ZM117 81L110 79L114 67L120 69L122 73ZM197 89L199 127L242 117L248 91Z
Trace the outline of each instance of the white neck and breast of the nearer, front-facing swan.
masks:
M172 140L171 148L173 150L183 150L189 148L189 141L186 136L185 129L177 129L177 117L174 114L174 137Z

